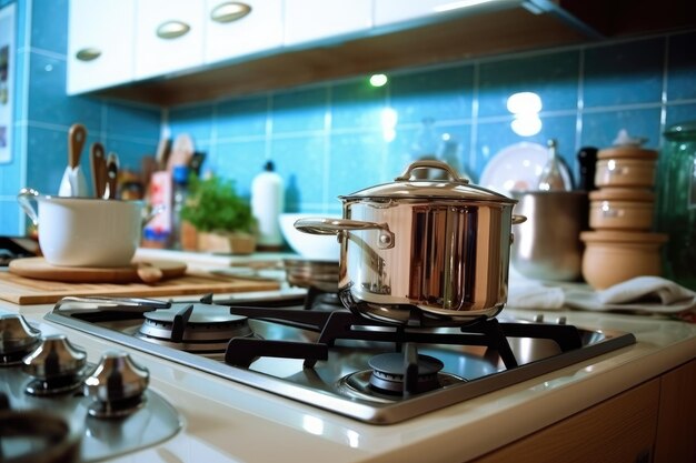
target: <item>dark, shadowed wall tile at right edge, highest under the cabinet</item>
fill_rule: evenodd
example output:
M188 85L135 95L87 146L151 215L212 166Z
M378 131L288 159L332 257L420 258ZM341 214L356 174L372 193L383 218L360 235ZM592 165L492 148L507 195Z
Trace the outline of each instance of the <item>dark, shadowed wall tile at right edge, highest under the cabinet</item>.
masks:
M668 39L667 101L696 98L696 32ZM694 115L692 119L696 119Z

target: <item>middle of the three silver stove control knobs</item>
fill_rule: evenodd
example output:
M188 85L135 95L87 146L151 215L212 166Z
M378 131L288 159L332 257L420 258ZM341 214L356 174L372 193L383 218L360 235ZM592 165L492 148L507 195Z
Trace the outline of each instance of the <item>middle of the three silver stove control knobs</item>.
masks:
M33 395L53 395L80 386L87 366L87 353L76 348L64 334L51 334L24 359L24 372L34 378L27 385Z

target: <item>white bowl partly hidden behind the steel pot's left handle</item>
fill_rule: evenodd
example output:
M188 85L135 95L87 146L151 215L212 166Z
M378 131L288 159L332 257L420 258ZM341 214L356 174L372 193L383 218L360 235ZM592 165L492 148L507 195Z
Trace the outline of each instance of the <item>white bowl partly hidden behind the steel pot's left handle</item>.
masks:
M295 228L295 222L298 219L309 217L341 218L340 215L335 214L312 214L307 212L280 214L278 220L280 222L280 231L282 232L282 236L286 242L290 245L292 251L297 252L305 259L338 262L340 245L338 244L336 235L309 234Z

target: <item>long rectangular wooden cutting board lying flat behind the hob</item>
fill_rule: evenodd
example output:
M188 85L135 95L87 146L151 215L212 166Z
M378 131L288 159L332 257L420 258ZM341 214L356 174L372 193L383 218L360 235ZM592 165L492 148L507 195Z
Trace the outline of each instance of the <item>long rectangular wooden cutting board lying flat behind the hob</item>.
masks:
M247 281L233 276L190 274L157 283L73 283L36 280L0 271L0 300L16 304L50 304L68 295L166 298L186 294L274 291L277 281Z

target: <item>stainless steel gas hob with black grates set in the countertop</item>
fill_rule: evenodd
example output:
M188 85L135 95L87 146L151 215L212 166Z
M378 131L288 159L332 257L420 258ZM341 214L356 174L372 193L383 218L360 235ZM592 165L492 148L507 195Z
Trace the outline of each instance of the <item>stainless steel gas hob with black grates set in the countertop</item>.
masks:
M635 343L630 333L563 319L396 326L349 312L336 294L311 295L66 298L46 319L372 424L401 422Z

